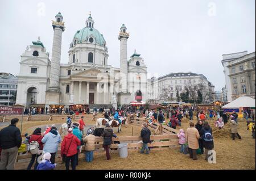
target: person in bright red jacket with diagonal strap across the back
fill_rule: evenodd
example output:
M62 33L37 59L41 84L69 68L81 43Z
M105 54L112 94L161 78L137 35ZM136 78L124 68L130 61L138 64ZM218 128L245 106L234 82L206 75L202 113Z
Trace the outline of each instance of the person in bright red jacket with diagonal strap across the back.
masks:
M70 161L72 170L76 170L77 146L80 145L81 141L73 134L72 128L69 128L68 135L64 137L64 140L61 143L61 157L63 157L63 155L66 156L66 170L69 170Z

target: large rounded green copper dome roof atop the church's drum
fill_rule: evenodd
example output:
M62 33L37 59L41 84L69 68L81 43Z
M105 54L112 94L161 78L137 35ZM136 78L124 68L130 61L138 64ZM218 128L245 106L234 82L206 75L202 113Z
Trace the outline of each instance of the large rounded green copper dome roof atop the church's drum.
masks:
M93 38L92 44L98 44L98 45L104 46L105 44L104 37L98 30L96 30L93 27L85 27L85 28L82 28L82 30L77 31L74 36L74 40L76 40L77 43L84 43L84 42L91 43L89 41L90 37Z

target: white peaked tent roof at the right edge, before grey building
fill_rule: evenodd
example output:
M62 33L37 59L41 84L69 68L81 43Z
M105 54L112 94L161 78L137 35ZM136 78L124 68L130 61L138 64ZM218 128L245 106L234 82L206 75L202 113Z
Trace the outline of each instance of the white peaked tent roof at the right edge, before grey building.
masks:
M222 109L238 109L240 107L255 107L255 99L247 96L241 96L240 98L237 98L223 106Z

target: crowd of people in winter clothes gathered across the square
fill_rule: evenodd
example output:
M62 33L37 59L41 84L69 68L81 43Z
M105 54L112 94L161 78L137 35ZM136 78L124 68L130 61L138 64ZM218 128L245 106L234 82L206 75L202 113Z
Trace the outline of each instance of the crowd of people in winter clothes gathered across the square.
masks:
M73 111L73 110L71 110ZM234 140L236 136L242 139L238 133L238 114L233 111L232 114L228 115L225 112L220 112L213 110L199 111L193 110L189 107L172 107L168 110L151 110L148 111L143 107L137 108L133 112L132 107L121 107L110 109L109 111L105 108L101 110L105 118L110 118L114 116L114 119L118 120L119 116L127 116L130 113L136 113L137 117L147 117L149 123L158 123L159 130L163 133L162 125L167 125L172 129L176 129L181 126L181 121L184 117L191 120L189 121L189 128L186 131L183 129L179 130L177 137L179 138L180 152L184 154L189 153L189 157L193 160L197 159L197 154L205 154L205 160L208 161L210 150L214 148L213 141L213 131L209 125L209 121L213 120L215 115L215 126L218 129L222 129L228 120L231 118L229 123L230 133L232 139ZM197 123L193 123L193 116L196 112ZM246 112L247 128L252 132L253 138L255 138L255 122L253 120L253 111ZM75 112L77 113L77 112ZM94 110L93 113L97 113ZM167 117L167 120L166 120ZM250 120L249 120L250 118ZM70 116L67 118L68 132L64 138L61 138L60 133L57 131L55 125L51 127L46 127L46 130L42 132L42 128L36 128L35 131L29 135L25 134L24 144L28 145L28 151L31 153L31 160L28 163L27 169L30 170L34 165L34 169L37 170L52 170L55 169L56 163L55 158L57 150L60 147L60 155L62 161L65 163L67 170L75 170L76 166L79 164L79 153L81 152L82 146L85 145L85 161L93 161L93 152L96 149L95 142L96 136L94 136L94 128L89 128L86 133L84 133L84 117L82 116L79 123L72 123ZM11 120L11 124L1 129L0 131L0 170L4 169L14 169L14 164L18 154L18 148L22 145L22 136L20 134L19 128L16 127L18 119ZM161 133L160 133L161 134ZM114 134L112 127L109 123L105 124L104 131L101 133L103 137L103 146L106 151L106 159L111 159L110 157L110 145L113 143L112 138L117 137ZM150 140L151 131L148 129L147 123L142 124L141 137L142 137L142 148L140 153L150 153L150 148L148 144L152 141ZM146 151L146 152L144 152ZM39 160L41 160L39 162Z

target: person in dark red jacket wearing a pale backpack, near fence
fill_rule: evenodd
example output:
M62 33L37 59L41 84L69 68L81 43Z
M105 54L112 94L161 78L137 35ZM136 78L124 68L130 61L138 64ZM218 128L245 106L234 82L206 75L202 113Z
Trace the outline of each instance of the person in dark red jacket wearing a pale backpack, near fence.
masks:
M38 144L39 144L39 150L43 150L43 142L42 142L42 134L41 134L41 128L36 128L35 131L32 133L32 135L30 136L30 140L29 142L31 141L37 141ZM30 160L30 163L28 164L27 166L27 170L31 170L31 167L32 165L34 164L34 162L36 161L35 163L35 166L34 166L34 170L36 170L36 168L38 167L38 157L40 156L40 154L32 154L31 155L31 160Z

